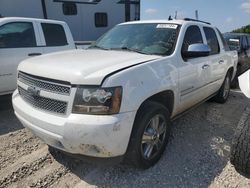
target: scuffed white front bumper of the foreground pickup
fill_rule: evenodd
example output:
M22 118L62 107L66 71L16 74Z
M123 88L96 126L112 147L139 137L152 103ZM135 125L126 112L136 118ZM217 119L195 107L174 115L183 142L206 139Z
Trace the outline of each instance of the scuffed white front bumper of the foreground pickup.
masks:
M123 156L127 150L136 112L63 117L33 108L17 92L12 101L22 124L52 147L100 158Z

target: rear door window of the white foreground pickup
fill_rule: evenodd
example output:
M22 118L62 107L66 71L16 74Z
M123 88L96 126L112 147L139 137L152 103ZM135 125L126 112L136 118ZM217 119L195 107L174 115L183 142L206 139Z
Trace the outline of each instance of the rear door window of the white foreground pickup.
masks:
M211 48L210 55L220 53L220 45L219 45L215 31L210 27L204 27L204 32L206 35L207 44Z

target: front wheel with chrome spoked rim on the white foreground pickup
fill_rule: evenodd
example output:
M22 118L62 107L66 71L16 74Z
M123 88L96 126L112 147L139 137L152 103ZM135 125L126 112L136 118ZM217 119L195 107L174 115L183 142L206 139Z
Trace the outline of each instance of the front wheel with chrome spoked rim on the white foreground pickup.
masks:
M169 135L167 108L156 102L145 102L137 112L125 162L141 169L153 166L163 154Z

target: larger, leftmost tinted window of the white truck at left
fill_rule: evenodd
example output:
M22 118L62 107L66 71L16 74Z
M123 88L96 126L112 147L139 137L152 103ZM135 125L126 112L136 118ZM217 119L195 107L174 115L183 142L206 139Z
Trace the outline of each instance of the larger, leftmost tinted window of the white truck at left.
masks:
M12 22L0 27L0 48L27 48L36 45L31 22Z

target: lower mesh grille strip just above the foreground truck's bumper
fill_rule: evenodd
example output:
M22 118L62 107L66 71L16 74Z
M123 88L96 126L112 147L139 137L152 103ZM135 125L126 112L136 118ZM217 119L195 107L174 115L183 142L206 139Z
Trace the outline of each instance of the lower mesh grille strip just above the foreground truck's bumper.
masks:
M58 114L65 114L67 111L67 102L49 99L41 96L33 96L30 92L21 87L18 87L18 92L23 100L25 100L35 108Z

